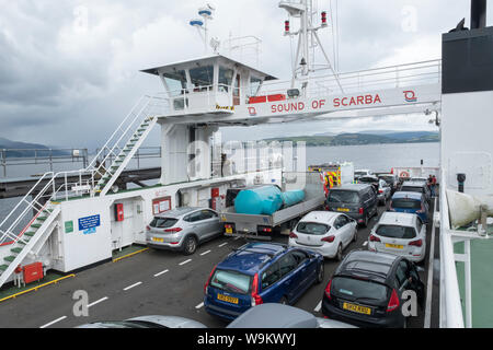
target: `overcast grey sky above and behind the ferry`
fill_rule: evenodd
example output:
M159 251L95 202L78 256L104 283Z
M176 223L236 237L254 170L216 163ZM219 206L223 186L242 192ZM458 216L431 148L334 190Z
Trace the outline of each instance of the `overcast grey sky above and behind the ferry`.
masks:
M289 79L287 14L277 0L210 0L214 36L255 35L263 71ZM335 8L332 0L332 8ZM203 56L188 25L205 1L0 0L0 137L62 147L103 145L145 93L162 86L139 70ZM329 10L331 1L319 0ZM493 7L489 3L489 25ZM442 33L462 19L470 0L339 1L341 72L440 58ZM335 11L333 11L335 18ZM330 56L332 31L322 33ZM433 129L428 117L367 118L223 130L225 139L256 139L366 129ZM241 137L239 137L241 135ZM154 130L153 144L159 142Z

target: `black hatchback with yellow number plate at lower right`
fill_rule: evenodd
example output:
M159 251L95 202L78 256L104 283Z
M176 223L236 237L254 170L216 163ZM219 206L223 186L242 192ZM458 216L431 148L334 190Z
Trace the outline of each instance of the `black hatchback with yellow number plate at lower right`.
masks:
M403 328L406 290L416 293L422 306L424 284L413 262L402 256L353 250L325 288L322 313L358 327Z

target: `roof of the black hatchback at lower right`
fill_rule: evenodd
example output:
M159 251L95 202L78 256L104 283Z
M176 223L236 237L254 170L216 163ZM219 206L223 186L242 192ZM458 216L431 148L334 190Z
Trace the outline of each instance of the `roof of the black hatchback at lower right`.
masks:
M353 250L339 266L337 276L363 276L381 283L387 283L393 266L400 257L387 253Z

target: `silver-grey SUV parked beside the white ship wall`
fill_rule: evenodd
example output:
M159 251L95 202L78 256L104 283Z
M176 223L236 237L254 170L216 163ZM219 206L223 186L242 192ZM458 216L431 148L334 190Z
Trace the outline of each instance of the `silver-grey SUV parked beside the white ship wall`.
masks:
M177 208L156 215L147 226L147 245L192 255L205 241L222 235L223 225L208 208Z

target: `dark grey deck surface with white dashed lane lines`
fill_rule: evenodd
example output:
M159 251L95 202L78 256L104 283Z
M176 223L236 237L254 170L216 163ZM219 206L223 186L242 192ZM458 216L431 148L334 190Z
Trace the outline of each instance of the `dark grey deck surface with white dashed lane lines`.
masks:
M379 208L379 213L385 211ZM359 229L357 242L346 250L367 249L366 241L372 219L367 229ZM429 241L432 222L427 225L427 257L420 272L426 284L428 279ZM275 242L287 243L287 236L275 237ZM435 249L438 249L436 237ZM76 273L74 278L59 284L49 285L35 293L0 303L0 327L67 328L98 320L122 320L142 315L175 315L195 319L213 328L222 328L227 324L207 314L202 306L204 283L211 269L220 262L231 248L244 244L242 238L219 237L202 245L195 255L183 256L177 253L148 249L117 262L107 262ZM325 260L324 282L311 287L294 305L322 317L316 311L322 300L323 290L332 277L337 261ZM431 326L438 327L438 276L434 273L435 288L432 300ZM72 300L74 291L84 290L89 294L88 317L73 315ZM62 318L64 317L64 318ZM410 328L423 328L424 310L408 322Z

